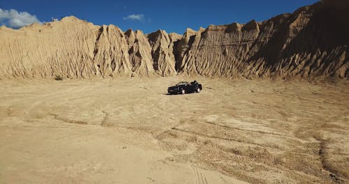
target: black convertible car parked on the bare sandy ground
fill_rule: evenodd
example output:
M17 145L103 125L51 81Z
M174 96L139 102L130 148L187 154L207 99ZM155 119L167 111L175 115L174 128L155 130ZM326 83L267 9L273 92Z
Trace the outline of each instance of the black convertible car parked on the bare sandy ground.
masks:
M196 81L189 82L179 82L176 86L170 86L168 88L168 93L170 94L185 94L185 93L200 93L202 90L201 84Z

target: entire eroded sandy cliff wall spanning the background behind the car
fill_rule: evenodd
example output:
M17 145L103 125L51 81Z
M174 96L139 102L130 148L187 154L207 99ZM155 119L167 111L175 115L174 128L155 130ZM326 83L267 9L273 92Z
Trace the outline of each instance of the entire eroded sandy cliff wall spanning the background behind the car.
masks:
M264 22L210 25L183 36L66 17L0 28L0 79L94 76L349 77L348 2L324 0Z

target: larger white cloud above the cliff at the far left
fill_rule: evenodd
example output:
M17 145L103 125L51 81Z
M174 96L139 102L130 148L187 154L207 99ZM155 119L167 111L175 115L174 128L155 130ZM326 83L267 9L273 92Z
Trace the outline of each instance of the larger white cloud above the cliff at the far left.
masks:
M33 24L34 22L39 22L36 15L31 15L27 12L18 12L17 10L3 10L0 8L0 23L12 28L20 28L22 26L27 26Z

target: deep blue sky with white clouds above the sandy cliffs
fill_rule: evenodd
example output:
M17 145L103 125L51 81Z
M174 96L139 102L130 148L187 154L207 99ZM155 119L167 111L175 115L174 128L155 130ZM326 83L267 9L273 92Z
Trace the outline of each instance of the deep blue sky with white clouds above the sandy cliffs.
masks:
M165 29L184 33L187 27L198 30L209 24L246 23L267 20L281 13L292 13L315 0L0 0L0 24L19 27L31 22L50 22L51 17L74 15L97 25L114 24L123 31L141 29L151 33ZM12 9L12 10L11 10Z

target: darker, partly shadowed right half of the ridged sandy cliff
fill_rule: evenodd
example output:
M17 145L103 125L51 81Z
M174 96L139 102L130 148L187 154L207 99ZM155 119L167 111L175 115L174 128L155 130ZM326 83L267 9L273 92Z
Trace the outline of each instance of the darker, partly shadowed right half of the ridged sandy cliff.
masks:
M186 35L193 33L186 33L180 70L207 76L347 78L348 6L337 3L315 3L260 23L211 25L192 41Z

